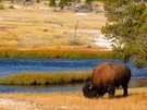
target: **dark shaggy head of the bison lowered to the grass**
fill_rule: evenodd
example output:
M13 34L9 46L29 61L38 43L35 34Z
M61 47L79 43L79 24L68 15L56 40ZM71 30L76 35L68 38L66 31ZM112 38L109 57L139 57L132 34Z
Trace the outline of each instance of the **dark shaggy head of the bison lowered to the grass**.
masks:
M105 89L103 87L93 86L90 83L87 83L83 87L83 94L87 98L94 98L94 97L98 98L98 97L103 96Z

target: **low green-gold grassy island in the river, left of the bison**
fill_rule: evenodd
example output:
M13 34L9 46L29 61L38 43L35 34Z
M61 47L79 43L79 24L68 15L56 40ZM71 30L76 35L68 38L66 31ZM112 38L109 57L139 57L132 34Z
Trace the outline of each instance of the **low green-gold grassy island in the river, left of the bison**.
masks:
M89 80L90 71L71 71L57 73L20 73L0 78L3 85L53 85L79 83Z

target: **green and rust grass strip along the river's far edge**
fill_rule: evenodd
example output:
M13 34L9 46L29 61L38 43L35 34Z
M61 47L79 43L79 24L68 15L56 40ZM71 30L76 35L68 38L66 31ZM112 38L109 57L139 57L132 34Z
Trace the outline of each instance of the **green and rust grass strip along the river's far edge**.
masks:
M82 50L0 50L0 58L69 58L69 59L112 59L112 51Z

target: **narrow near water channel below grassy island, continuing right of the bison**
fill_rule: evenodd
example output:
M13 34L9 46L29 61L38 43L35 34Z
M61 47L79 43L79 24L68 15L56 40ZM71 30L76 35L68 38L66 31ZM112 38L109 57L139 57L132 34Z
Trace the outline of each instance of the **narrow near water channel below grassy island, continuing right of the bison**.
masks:
M0 85L0 93L51 93L82 90L85 83L68 85ZM147 87L147 80L131 80L130 88Z

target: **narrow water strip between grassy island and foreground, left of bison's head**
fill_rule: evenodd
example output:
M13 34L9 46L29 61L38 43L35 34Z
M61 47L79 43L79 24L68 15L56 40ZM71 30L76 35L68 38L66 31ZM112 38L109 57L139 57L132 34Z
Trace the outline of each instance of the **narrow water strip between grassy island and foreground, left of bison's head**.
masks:
M83 84L68 85L0 85L1 93L51 93L81 90Z

